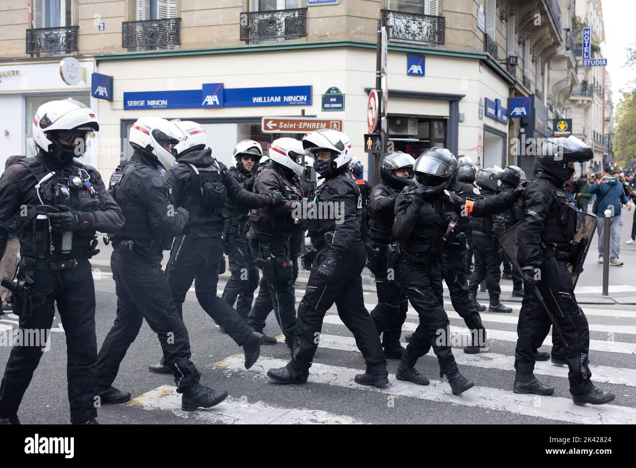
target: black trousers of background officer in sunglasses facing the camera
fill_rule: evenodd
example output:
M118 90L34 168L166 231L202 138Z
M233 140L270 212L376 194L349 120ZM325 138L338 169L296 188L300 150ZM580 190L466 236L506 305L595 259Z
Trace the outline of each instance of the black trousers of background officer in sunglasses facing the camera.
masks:
M230 280L225 285L221 299L234 306L243 320L247 321L258 287L258 267L252 259L249 242L244 234L226 234L225 243L230 258Z

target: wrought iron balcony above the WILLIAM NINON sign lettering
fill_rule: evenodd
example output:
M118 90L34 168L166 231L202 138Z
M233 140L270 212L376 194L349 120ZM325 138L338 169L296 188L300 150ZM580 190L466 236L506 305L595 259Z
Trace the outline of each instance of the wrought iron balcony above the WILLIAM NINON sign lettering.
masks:
M248 11L240 14L240 40L259 41L298 39L307 36L307 8Z

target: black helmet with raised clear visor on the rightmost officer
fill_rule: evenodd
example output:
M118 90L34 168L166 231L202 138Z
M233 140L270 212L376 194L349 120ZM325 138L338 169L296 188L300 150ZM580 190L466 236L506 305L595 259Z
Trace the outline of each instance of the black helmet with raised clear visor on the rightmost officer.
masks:
M570 162L586 162L593 157L592 148L574 135L548 138L537 151L533 172L565 182L574 174L574 167L569 167Z

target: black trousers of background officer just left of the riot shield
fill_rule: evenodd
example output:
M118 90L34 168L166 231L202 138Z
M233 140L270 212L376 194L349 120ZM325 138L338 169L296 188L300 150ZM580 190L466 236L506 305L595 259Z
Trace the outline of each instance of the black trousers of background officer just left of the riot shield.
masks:
M499 301L501 287L499 280L501 279L501 253L499 246L495 243L492 236L479 236L473 232L473 255L475 259L475 267L469 289L476 291L481 281L486 280L486 288L491 301Z

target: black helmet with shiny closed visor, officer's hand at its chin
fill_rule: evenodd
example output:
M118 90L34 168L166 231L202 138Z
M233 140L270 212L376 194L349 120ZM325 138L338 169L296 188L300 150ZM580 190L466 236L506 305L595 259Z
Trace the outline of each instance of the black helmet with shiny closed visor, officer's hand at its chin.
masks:
M457 168L455 155L446 148L433 146L420 154L413 164L415 186L424 195L439 194L450 185Z

